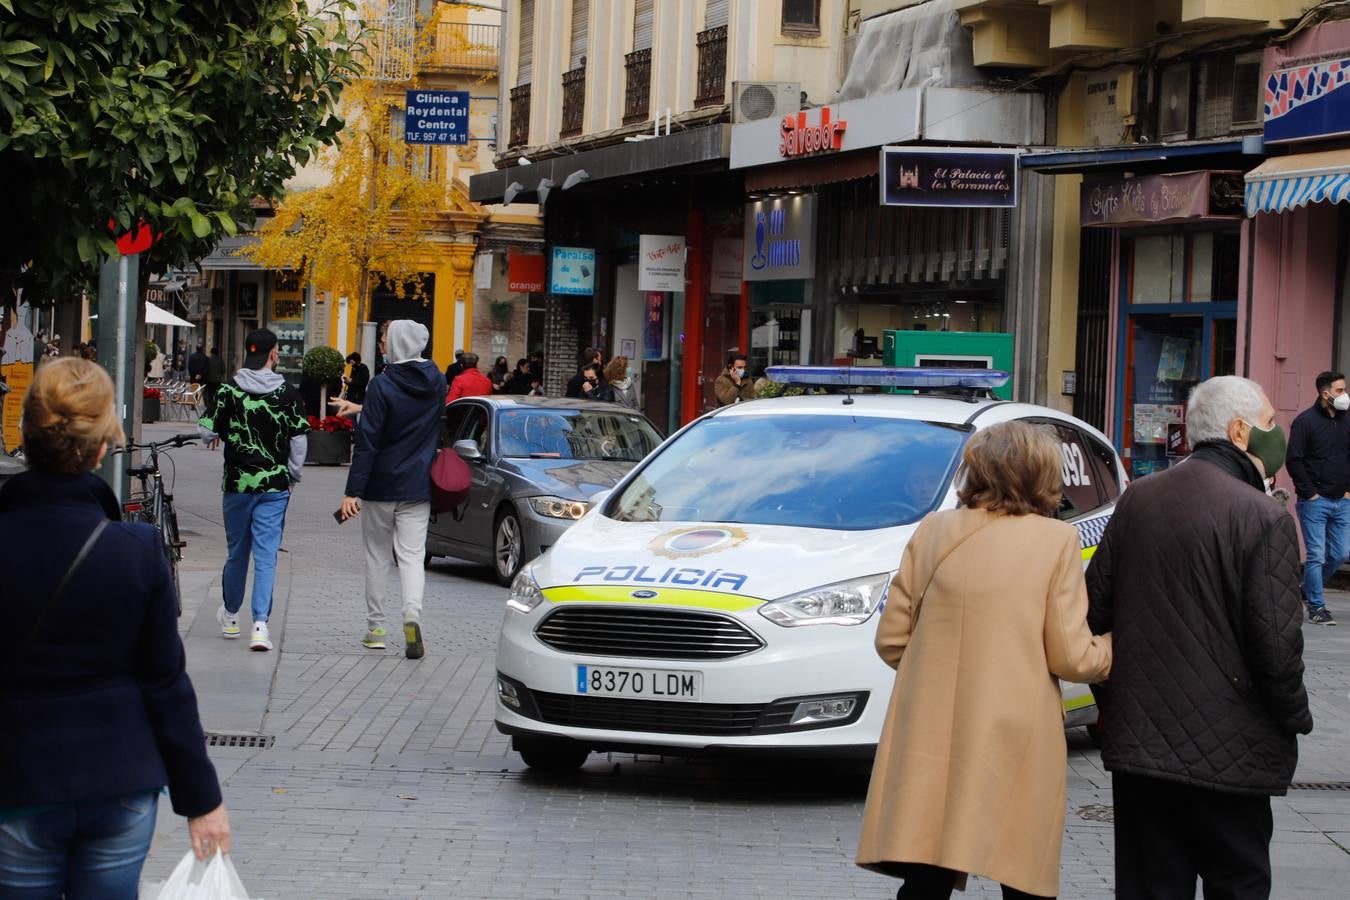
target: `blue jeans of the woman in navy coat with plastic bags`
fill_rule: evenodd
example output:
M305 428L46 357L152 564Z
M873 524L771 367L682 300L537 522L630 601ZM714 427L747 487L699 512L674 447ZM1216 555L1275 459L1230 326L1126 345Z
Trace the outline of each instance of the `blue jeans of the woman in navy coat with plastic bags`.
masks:
M0 897L135 900L158 791L72 803L0 824Z

